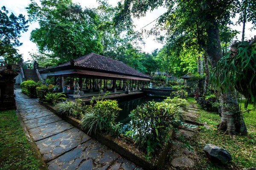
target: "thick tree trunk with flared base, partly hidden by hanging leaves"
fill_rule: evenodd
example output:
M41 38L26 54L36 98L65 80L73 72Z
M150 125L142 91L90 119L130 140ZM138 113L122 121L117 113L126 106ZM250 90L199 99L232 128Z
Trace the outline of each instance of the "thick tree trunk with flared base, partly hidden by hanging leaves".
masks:
M210 0L206 0L206 3L209 5L209 8L212 8ZM208 10L209 8L204 8L204 6L202 6L203 11L205 9ZM207 14L207 12L209 13ZM206 27L208 39L207 45L204 45L204 49L209 56L212 68L215 68L218 61L223 57L223 54L221 50L218 24L215 17L210 14L211 11L207 12L205 15L207 15L211 24ZM231 85L231 87L232 86L233 85ZM220 94L219 99L221 101L221 123L218 126L218 130L224 130L224 134L229 134L231 138L233 138L233 135L236 133L247 133L244 120L239 110L236 93L231 89L227 94Z

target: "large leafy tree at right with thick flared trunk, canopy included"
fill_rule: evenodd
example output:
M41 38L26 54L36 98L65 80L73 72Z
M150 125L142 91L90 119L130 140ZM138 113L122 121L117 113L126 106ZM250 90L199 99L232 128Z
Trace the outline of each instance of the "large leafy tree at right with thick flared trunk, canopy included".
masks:
M124 4L117 16L119 19L123 13L126 18L128 14L140 17L148 10L167 7L168 11L160 17L159 22L168 23L166 28L169 40L191 43L196 39L196 44L207 52L212 68L223 57L219 28L221 25L232 24L230 10L233 8L233 0L125 0ZM220 101L221 123L218 130L224 130L224 134L231 137L236 133L247 133L234 91L231 89L221 94Z

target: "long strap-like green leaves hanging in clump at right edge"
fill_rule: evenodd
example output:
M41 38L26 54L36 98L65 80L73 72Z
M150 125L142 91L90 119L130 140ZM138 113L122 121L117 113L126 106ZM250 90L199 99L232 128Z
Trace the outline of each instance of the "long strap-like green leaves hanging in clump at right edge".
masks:
M256 43L249 44L242 42L238 45L238 54L230 57L230 54L224 56L217 64L212 74L216 90L222 90L223 93L230 90L230 84L233 84L237 91L245 96L247 102L244 107L247 108L249 100L256 103ZM236 48L236 47L235 47ZM215 75L215 72L218 75Z

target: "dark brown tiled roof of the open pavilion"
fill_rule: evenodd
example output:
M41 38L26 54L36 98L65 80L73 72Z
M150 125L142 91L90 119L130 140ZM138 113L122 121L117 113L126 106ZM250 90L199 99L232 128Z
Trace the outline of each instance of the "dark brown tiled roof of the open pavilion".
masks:
M83 57L80 57L78 59L74 59L74 66L78 67L84 67L84 68L90 68L90 69L96 69L102 72L104 71L111 71L117 74L128 74L133 76L139 76L139 77L147 77L151 78L145 74L140 73L139 71L135 70L134 68L131 68L130 66L126 65L123 62L117 61L115 59L111 59L108 57L104 57L99 54L90 53ZM71 66L71 62L65 62L61 65L57 65L52 68L59 68L63 66ZM46 68L44 70L49 70L52 68ZM44 71L41 70L41 71Z

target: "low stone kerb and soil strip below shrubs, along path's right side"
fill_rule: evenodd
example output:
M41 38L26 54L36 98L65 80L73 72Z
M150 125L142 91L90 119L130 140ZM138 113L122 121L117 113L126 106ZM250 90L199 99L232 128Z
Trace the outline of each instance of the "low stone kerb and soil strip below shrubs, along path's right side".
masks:
M87 130L84 130L81 128L80 121L78 119L75 119L71 116L66 115L59 115L57 111L51 106L46 103L40 102L41 105L44 105L46 108L48 108L50 111L55 113L56 115L60 116L62 119L66 120L73 126L79 128L80 130L84 131L84 133L87 133ZM171 137L174 136L174 131L172 130ZM116 153L119 153L121 156L125 157L126 159L133 161L137 166L142 167L145 170L155 170L155 169L161 169L165 165L166 157L168 155L169 149L171 147L171 143L166 144L166 147L161 151L161 154L155 158L154 160L148 161L145 159L144 155L145 153L139 151L138 149L129 146L125 142L121 142L118 139L115 139L109 135L106 135L104 133L91 133L90 136L102 144L106 145Z

